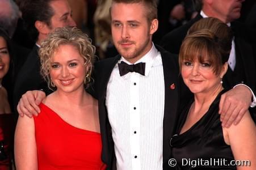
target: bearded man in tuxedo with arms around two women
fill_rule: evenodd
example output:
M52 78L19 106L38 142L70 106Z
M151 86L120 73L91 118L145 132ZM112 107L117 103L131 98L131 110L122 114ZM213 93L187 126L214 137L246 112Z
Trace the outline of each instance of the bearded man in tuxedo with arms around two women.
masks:
M168 169L169 142L183 99L181 91L186 90L179 79L177 56L152 42L158 28L153 0L113 0L110 12L119 55L95 64L94 82L102 160L113 169ZM250 91L236 87L229 92L234 91L246 105L231 105L248 108ZM41 91L23 95L20 115L40 112L37 104L44 97Z

